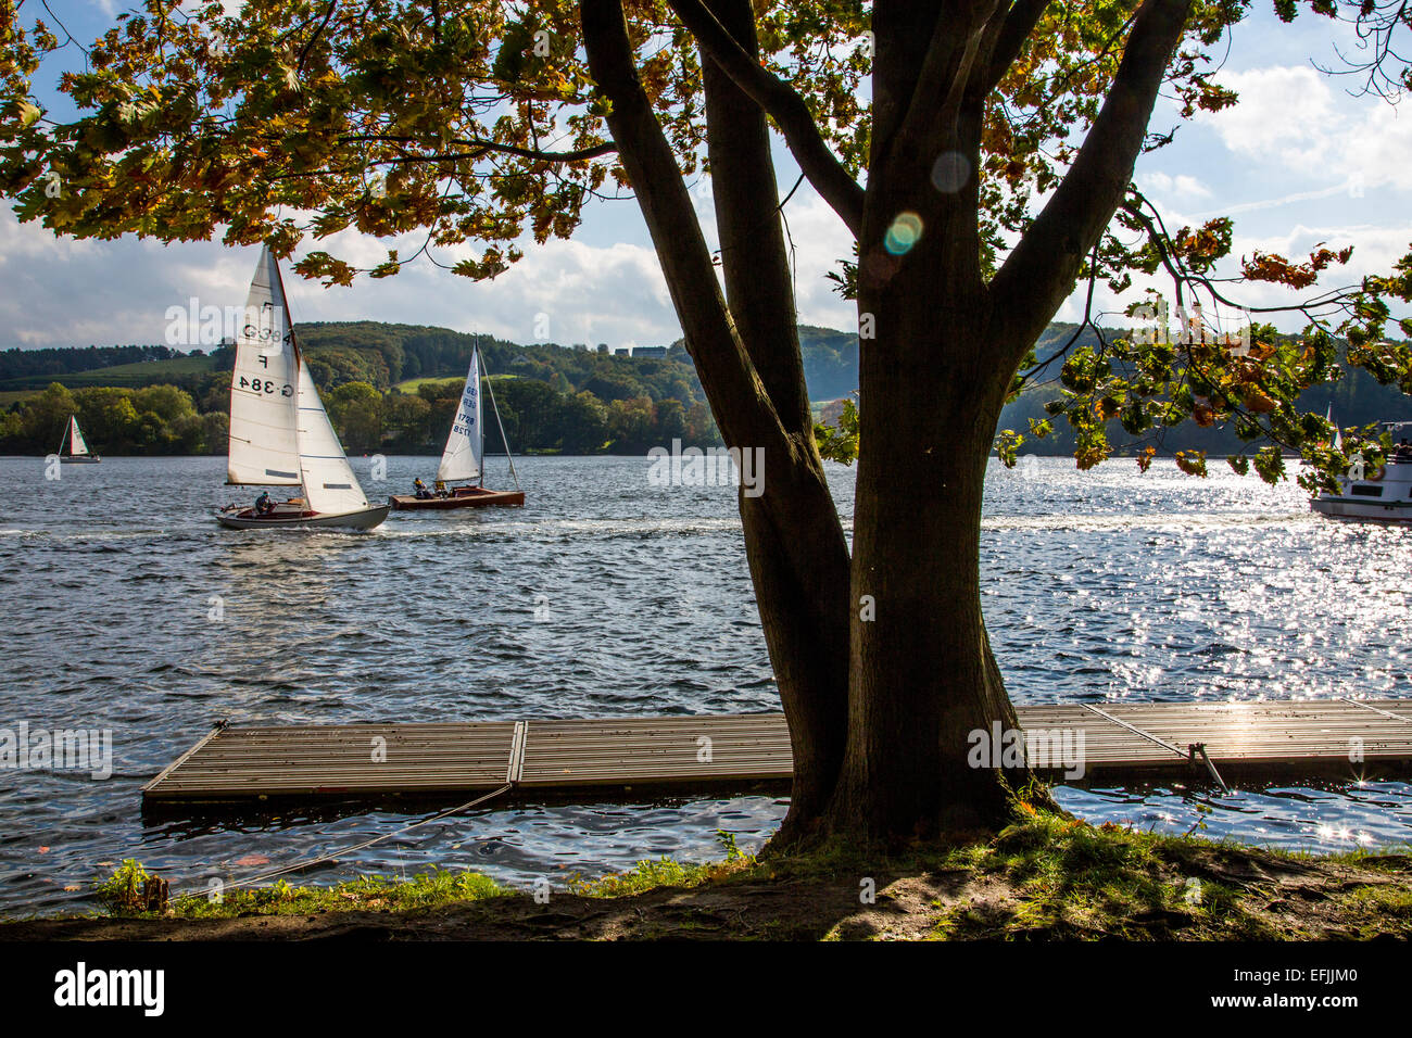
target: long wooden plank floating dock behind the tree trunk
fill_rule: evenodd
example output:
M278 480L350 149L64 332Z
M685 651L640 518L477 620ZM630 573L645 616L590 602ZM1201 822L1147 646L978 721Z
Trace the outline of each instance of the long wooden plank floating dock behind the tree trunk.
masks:
M1017 708L1060 781L1378 778L1412 765L1412 700L1042 705ZM1066 734L1067 733L1067 734ZM1204 750L1204 758L1202 756ZM1210 761L1209 768L1206 760ZM1031 753L1035 764L1035 754ZM1065 772L1070 774L1065 774ZM531 799L788 788L781 713L435 724L215 727L143 787L145 805L274 798Z

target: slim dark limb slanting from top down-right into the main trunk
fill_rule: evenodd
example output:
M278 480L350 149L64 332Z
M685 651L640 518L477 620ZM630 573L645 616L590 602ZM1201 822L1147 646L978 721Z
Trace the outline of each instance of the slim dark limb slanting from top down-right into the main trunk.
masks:
M863 233L863 188L825 144L803 97L736 42L700 0L668 0L702 52L775 120L799 168L854 237Z

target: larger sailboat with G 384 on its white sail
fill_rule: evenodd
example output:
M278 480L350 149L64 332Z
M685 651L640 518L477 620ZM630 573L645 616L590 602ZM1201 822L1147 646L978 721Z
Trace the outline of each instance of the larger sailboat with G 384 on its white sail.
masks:
M232 530L349 527L371 530L388 506L359 486L304 363L289 323L280 264L260 253L230 374L227 486L297 486L287 501L261 494L264 507L227 506L216 520Z

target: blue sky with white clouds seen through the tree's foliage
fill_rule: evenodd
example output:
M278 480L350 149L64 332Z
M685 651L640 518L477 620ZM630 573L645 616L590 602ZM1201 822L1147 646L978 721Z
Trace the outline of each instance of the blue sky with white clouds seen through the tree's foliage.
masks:
M85 41L123 10L119 0L49 0L49 6ZM1240 92L1240 103L1185 123L1169 147L1139 160L1135 179L1172 230L1231 215L1236 257L1260 249L1293 260L1319 243L1336 250L1351 244L1350 264L1322 284L1387 271L1412 250L1412 106L1356 96L1361 80L1315 66L1313 61L1337 66L1336 41L1346 52L1356 45L1346 28L1313 16L1285 25L1268 13L1268 0L1257 6L1236 27L1217 75ZM52 79L56 66L47 64L45 72ZM1178 121L1175 105L1163 100L1151 129L1165 131ZM784 195L798 168L782 145L777 167ZM714 247L709 181L692 196ZM785 216L795 246L801 323L853 328L853 305L825 278L851 256L843 223L808 182ZM319 247L373 266L397 243L345 232ZM415 246L404 254L409 251ZM443 250L439 257L459 254ZM256 247L220 241L56 239L38 223L18 223L0 203L0 349L161 343L174 306L185 309L191 299L198 306L243 305L256 260ZM381 281L359 278L352 287L323 288L287 275L285 285L295 322L376 319L563 345L648 346L681 336L633 199L593 203L572 240L531 244L525 258L494 281L472 282L418 260ZM1121 323L1118 312L1139 299L1142 287L1115 299L1100 285L1094 309L1107 315L1106 323ZM1275 285L1241 287L1238 295L1250 306L1295 299ZM1082 312L1079 291L1056 319L1077 321ZM1238 314L1209 316L1223 330L1240 322ZM1274 323L1298 330L1302 319L1291 315Z

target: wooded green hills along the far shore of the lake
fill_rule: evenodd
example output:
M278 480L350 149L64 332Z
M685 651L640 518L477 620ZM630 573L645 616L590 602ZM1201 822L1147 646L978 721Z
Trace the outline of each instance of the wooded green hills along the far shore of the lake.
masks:
M1077 346L1097 346L1093 329L1053 323L1036 343L1048 354L1079 332ZM1104 329L1111 340L1123 335ZM801 326L809 395L836 424L839 397L857 386L857 339L844 332ZM700 381L682 343L665 356L628 357L606 347L520 345L489 335L387 325L373 321L311 323L299 340L335 429L349 453L438 453L460 398L463 373L480 349L493 373L505 436L520 453L640 455L681 439L686 446L720 446ZM0 411L0 453L44 455L56 449L69 415L78 415L93 451L112 455L219 455L226 451L230 410L229 345L203 354L164 346L0 352L0 374L17 376L0 390L27 383L31 395ZM30 356L32 354L32 356ZM196 357L202 364L195 364ZM95 364L120 363L112 374ZM193 370L193 369L202 370ZM54 380L44 388L45 374ZM112 384L107 384L112 378ZM95 384L103 380L102 384ZM400 383L401 380L401 383ZM61 383L68 383L65 388ZM490 387L484 387L490 388ZM1049 418L1059 395L1053 381L1028 387L1001 414L998 429L1025 432ZM483 398L489 397L483 394ZM1365 371L1309 390L1305 405L1332 410L1343 426L1406 418L1408 401ZM846 435L843 431L839 435ZM1130 453L1118 424L1110 422L1114 453ZM1070 455L1075 434L1053 425L1042 439L1027 435L1021 453ZM486 411L486 446L504 451L493 412ZM1159 452L1241 449L1233 429L1183 425L1165 431Z

